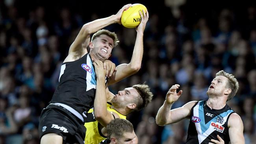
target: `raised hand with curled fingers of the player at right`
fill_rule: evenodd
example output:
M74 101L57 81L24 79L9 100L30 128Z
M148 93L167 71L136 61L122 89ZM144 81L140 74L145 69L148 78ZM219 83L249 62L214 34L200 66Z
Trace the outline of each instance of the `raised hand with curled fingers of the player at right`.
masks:
M166 103L167 104L172 104L174 102L176 102L178 100L178 98L180 97L180 95L182 94L182 90L180 90L178 93L176 92L176 90L180 87L180 85L175 84L173 85L169 91L166 94Z

